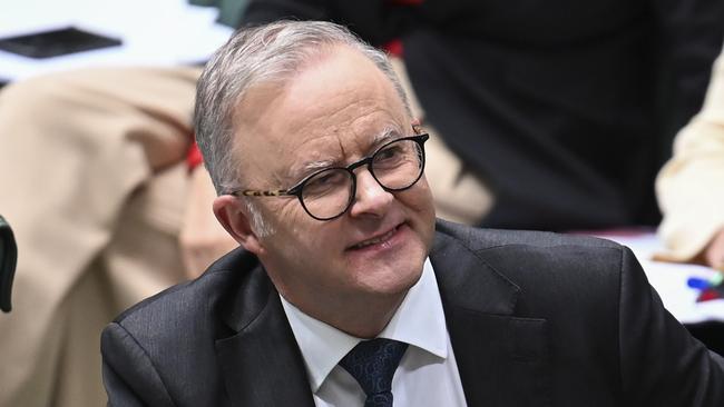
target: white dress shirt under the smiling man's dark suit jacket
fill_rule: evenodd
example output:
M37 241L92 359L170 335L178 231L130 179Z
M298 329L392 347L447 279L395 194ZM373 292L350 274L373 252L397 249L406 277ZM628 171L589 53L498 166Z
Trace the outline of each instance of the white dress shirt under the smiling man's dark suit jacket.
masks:
M315 405L363 406L364 391L337 365L362 339L310 317L281 298L304 358ZM395 407L467 406L429 258L420 280L379 337L410 345L392 379Z

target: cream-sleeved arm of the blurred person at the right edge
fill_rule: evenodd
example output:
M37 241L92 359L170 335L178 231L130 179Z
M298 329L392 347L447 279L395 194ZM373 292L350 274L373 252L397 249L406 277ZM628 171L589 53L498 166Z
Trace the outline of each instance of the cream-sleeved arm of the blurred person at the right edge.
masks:
M712 71L702 111L678 133L657 179L665 260L724 271L724 54Z

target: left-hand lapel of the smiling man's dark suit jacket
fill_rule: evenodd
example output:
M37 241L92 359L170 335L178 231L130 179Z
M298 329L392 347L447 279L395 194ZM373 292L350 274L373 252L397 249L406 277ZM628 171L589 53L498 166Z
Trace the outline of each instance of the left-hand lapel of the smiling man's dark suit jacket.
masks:
M302 355L278 295L257 267L224 311L237 334L216 341L234 406L314 407Z

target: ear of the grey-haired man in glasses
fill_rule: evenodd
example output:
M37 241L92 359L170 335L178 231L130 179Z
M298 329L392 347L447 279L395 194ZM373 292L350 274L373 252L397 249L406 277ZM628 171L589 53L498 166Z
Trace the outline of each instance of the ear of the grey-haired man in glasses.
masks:
M261 254L262 245L252 228L248 210L238 198L231 195L216 197L214 215L239 245L256 256Z

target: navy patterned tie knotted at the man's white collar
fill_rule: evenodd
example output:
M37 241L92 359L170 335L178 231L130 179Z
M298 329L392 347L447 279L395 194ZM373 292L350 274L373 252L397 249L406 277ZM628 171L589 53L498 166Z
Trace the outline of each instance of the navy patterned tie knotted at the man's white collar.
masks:
M364 390L364 407L392 407L392 376L407 348L392 339L363 340L340 360Z

